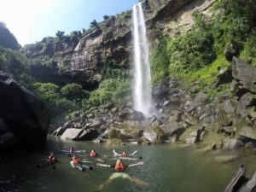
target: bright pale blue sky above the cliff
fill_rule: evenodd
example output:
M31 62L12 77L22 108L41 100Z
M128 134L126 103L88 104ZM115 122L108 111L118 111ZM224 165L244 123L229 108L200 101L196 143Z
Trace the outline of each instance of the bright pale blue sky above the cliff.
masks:
M131 9L137 0L0 0L0 21L19 44L32 44L57 31L82 31L92 20Z

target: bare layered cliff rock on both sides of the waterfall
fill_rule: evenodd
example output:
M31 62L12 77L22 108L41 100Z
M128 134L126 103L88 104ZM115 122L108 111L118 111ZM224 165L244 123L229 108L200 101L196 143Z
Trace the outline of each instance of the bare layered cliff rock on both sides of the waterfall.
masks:
M163 32L169 36L191 29L191 14L198 10L211 15L214 0L151 0L144 1L148 38L152 47ZM131 11L110 16L75 36L76 38L44 38L40 44L23 49L32 59L49 56L56 65L32 67L32 76L43 82L66 84L71 81L91 90L102 80L104 65L129 68L131 63ZM43 70L42 70L43 69Z

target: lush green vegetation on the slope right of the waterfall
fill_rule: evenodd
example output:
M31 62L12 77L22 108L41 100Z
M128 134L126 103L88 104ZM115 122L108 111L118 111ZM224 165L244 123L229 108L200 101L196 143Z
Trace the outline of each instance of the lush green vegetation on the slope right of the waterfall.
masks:
M170 77L200 81L201 90L213 96L219 68L229 67L224 49L235 49L246 61L256 65L256 2L220 0L212 18L193 14L192 30L174 38L163 36L150 57L153 83ZM212 84L212 88L206 86ZM224 93L229 85L220 85Z

